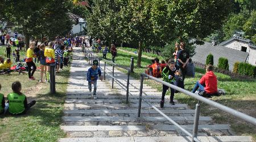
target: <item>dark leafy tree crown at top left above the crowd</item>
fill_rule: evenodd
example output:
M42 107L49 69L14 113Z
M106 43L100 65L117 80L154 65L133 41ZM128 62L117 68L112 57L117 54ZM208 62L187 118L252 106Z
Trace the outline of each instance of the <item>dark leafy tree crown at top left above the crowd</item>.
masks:
M67 34L71 30L71 22L67 16L64 0L23 0L3 1L4 16L14 24L14 30L25 36L26 48L30 38Z

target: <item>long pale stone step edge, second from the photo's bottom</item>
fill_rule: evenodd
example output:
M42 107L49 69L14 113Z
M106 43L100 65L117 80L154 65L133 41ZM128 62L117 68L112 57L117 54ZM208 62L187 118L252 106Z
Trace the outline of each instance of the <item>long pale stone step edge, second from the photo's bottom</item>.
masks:
M181 125L185 130L193 130L193 125ZM143 130L161 130L161 131L175 131L180 130L174 125L160 124L147 126L61 126L64 131L143 131ZM199 125L199 130L228 130L227 124L215 125Z

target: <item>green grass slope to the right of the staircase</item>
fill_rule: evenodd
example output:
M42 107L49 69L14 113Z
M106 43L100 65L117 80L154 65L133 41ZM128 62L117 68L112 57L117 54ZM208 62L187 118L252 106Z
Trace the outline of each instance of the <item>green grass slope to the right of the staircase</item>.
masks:
M125 49L125 48L118 48ZM118 50L117 49L117 50ZM134 57L134 73L131 76L139 79L139 74L144 72L146 69L145 66L151 63L150 58L154 58L151 56L151 53L147 53L147 58L142 57L141 66L142 68L136 67L138 55L134 55L134 49L129 49L129 51L123 52L118 51L118 56L115 58L115 63L130 66L130 58ZM145 56L146 54L143 55ZM98 56L102 56L101 53L98 53ZM112 59L110 53L108 53L107 58L109 60ZM161 57L159 57L161 59ZM127 73L126 70L120 69L122 72ZM200 80L201 76L205 73L205 69L196 68L196 76L195 78L185 78L185 89L192 90L197 80ZM246 81L246 80L233 80L229 76L226 76L221 73L215 73L218 79L218 88L224 89L226 91L226 95L222 95L220 97L211 98L213 101L221 103L222 105L234 108L235 110L241 111L247 115L253 116L256 118L256 81ZM145 83L151 85L158 91L162 91L162 85L158 82L152 80L145 80ZM167 93L170 95L170 93ZM192 109L195 108L197 103L196 99L188 97L188 95L177 93L175 94L175 99L177 99L180 103L187 103L189 107ZM234 117L233 115L226 114L214 108L212 106L206 105L205 103L201 103L201 115L203 116L212 116L214 123L220 124L230 124L230 127L237 135L251 135L256 140L256 127L253 124L245 123L243 120Z

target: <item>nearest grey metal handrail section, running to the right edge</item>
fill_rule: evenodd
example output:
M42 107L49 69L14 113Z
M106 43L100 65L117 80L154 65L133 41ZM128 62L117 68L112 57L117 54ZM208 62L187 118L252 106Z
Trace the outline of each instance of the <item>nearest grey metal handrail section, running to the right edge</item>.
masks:
M194 124L193 124L193 133L189 133L187 130L185 130L184 128L182 128L179 124L177 124L176 122L174 122L174 120L172 120L171 118L169 118L167 115L165 115L162 111L160 111L158 108L156 108L155 106L151 105L151 103L147 102L146 99L144 97L142 97L142 90L143 90L143 81L144 81L144 77L148 77L151 80L154 80L156 82L162 83L163 85L166 85L168 87L171 87L174 90L180 91L181 93L187 94L190 97L193 97L195 99L198 100L197 104L196 104L196 110L195 110L195 118L194 118ZM148 105L150 105L152 108L154 108L156 111L158 111L162 116L164 116L164 118L166 118L167 120L169 120L172 124L174 124L175 126L177 126L178 128L180 128L181 131L185 132L189 137L192 137L192 141L200 141L199 139L197 139L197 131L198 131L198 125L199 125L199 114L200 114L200 103L204 102L207 103L210 106L216 107L222 111L228 112L228 114L237 116L238 118L241 118L243 120L245 120L246 122L252 123L254 125L256 125L256 118L253 118L249 115L243 114L242 112L239 112L237 110L234 110L232 108L226 107L224 105L221 105L220 103L211 101L207 98L201 97L200 95L196 95L195 93L192 93L188 90L182 89L180 87L177 87L175 85L172 85L171 83L159 80L158 78L149 76L146 73L141 73L141 86L139 89L139 108L138 108L138 117L141 116L141 102L145 101Z

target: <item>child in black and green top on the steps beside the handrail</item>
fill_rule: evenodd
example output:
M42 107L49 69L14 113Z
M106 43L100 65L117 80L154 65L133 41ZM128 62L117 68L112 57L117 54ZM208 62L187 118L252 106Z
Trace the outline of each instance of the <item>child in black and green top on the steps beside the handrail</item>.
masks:
M168 61L168 65L166 66L166 68L163 69L163 72L162 72L163 81L174 85L176 82L176 77L175 77L176 72L177 72L177 66L175 65L175 61L170 59ZM163 108L163 106L164 106L164 96L166 95L166 91L168 89L169 89L168 86L163 85L162 100L160 102L161 108ZM174 93L175 93L175 90L171 88L171 96L170 96L170 104L171 105L175 105Z

